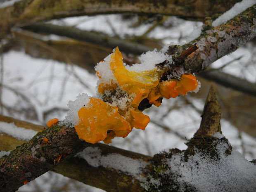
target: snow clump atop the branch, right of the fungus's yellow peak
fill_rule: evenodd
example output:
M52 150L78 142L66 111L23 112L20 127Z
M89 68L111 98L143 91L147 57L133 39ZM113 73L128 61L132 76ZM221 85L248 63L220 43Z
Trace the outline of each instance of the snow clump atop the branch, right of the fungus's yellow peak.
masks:
M156 49L153 51L148 51L140 55L139 57L141 63L133 64L132 66L126 65L126 69L129 71L148 71L156 68L156 64L162 63L165 60L168 62L172 61L172 57L170 55L164 54L164 52L158 52Z

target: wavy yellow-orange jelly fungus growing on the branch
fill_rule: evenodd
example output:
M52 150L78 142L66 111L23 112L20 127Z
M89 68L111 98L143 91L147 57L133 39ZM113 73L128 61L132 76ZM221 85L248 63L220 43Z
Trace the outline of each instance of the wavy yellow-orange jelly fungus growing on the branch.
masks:
M188 91L198 87L198 82L192 74L183 74L180 81L171 79L159 83L163 70L155 68L142 72L129 71L123 65L123 57L118 47L111 55L110 69L118 85L133 99L126 109L121 110L90 97L88 105L78 111L80 122L75 126L78 137L86 142L96 143L103 140L108 144L116 136L126 137L133 127L145 130L149 116L138 109L143 99L147 98L150 104L159 107L162 97L169 99L177 97L180 93L186 95ZM102 77L98 71L96 73L99 78ZM104 94L105 90L114 91L118 85L113 82L101 83L98 92Z

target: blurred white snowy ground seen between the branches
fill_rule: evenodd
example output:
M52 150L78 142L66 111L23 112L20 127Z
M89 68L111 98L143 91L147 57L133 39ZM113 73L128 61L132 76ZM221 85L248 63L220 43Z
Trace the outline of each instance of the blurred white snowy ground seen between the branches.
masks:
M111 23L112 27L108 24L103 25L103 23L106 23L106 20ZM134 21L121 22L119 15L108 15L107 17L101 15L96 17L74 17L51 22L62 25L76 25L81 29L102 31L109 35L117 33L120 37L127 35L138 36L143 34L147 28L150 27L150 24L145 24L139 28L129 28L128 26ZM170 23L176 27L170 29L158 27L149 33L149 37L164 38L164 43L180 43L178 42L180 35L182 36L180 38L181 40L190 39L191 36L189 34L193 29L195 28L195 30L198 31L198 28L201 27L200 22L183 21L175 17L171 17L166 21L166 25ZM194 37L195 34L192 36ZM247 47L248 49L240 48L236 52L219 59L211 66L218 68L226 62L243 55L239 62L234 62L234 64L225 67L223 71L246 77L248 81L256 82L255 65L248 65L247 68L241 70L244 64L251 62L249 59L252 59L253 57L251 57L251 55L255 55L256 52L255 48L254 50L251 49L251 44L247 44ZM255 61L252 62L255 63ZM44 125L47 120L52 118L64 119L66 115L65 110L63 110L62 113L52 112L49 117L47 116L45 119L43 113L54 107L67 109L66 104L68 101L75 100L79 93L85 92L88 95L93 95L95 92L96 76L78 66L69 66L52 60L34 59L25 55L24 52L11 51L3 55L3 68L4 75L2 83L7 87L4 87L2 90L1 101L7 106L15 106L17 109L26 109L26 107L30 105L31 109L36 110L38 117L35 121L29 119L28 116L22 116L14 111L12 114L14 114L14 117L17 119L31 121L41 125ZM73 75L74 73L76 76L79 76L80 80ZM80 81L83 81L84 84L81 84ZM16 93L13 90L16 90ZM17 92L19 92L18 95ZM188 94L186 97L190 99L191 95ZM28 100L26 100L26 98L28 98ZM187 139L191 138L197 128L199 128L201 114L192 107L183 107L183 102L184 100L181 98L163 100L163 104L159 108L151 107L147 109L145 112L150 116L152 122L149 123L146 130L135 129L124 139L115 138L112 140L111 145L149 155L154 155L161 150L169 148L177 147L179 149L185 149L186 146L184 142L186 142L186 140L177 135L182 135ZM193 102L197 109L202 109L204 106L204 100L196 99L191 100L191 102ZM166 111L169 110L171 111L168 115L164 116ZM4 115L10 115L6 109L2 109L2 112ZM173 134L172 131L168 132L164 130L160 126L157 126L156 123L170 127L171 130L175 131L177 134ZM239 139L237 128L225 120L221 121L221 125L223 135L228 138L233 147L236 147L238 151L241 152L241 140ZM256 139L242 133L242 140L247 149L244 154L245 157L249 160L256 159ZM33 182L29 182L27 185L20 187L19 192L49 192L54 191L53 188L58 186L68 187L67 191L70 192L102 191L79 182L72 183L69 178L49 172L40 176ZM55 191L56 190L57 189L55 189Z

